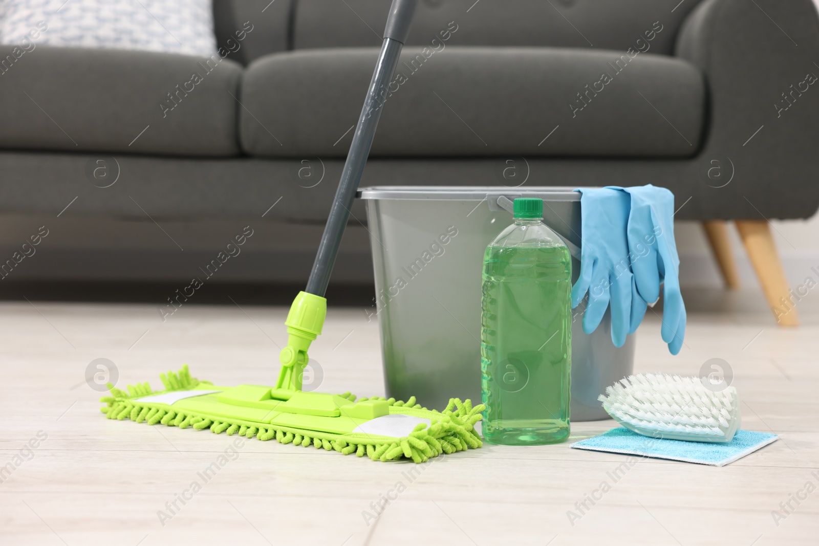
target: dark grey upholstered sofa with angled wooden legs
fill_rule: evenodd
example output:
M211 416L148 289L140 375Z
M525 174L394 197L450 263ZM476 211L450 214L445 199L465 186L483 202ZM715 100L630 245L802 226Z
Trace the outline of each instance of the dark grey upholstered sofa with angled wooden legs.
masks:
M0 212L320 223L388 5L215 0L211 59L0 47ZM817 60L810 0L422 0L362 185L654 183L776 262L767 219L819 206Z

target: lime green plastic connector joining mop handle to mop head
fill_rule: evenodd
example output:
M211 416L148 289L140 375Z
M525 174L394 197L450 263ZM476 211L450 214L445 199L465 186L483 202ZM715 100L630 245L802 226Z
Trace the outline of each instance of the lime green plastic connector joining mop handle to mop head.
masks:
M275 390L290 393L301 390L301 379L309 362L307 350L310 343L319 336L327 317L327 300L321 296L301 291L293 300L287 313L287 347L278 355L282 368L278 372ZM275 395L274 397L278 398Z

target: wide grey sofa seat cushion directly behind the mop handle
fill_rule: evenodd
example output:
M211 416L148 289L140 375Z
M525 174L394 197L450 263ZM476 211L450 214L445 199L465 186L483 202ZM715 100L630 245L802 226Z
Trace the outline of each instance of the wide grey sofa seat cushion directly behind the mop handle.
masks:
M687 61L559 47L407 47L373 156L685 157L705 83ZM287 52L247 67L251 156L345 156L378 49Z

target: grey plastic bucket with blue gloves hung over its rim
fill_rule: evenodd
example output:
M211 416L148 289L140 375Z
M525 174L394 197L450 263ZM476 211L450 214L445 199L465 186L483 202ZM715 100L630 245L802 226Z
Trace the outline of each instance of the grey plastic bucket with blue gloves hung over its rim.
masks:
M581 245L580 194L568 187L365 187L387 396L428 408L481 399L483 252L513 222L500 196L540 197L544 222ZM501 200L503 201L503 200ZM577 254L577 252L572 252ZM580 263L572 257L572 282ZM572 421L609 418L597 397L634 367L634 336L611 341L609 313L595 332L572 316Z

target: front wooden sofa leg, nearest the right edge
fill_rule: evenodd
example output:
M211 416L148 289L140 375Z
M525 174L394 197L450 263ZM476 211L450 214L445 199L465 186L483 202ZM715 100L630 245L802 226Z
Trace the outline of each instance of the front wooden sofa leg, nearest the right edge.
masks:
M780 326L799 326L799 315L790 300L788 280L776 252L771 227L765 220L736 220L736 228L776 322Z

